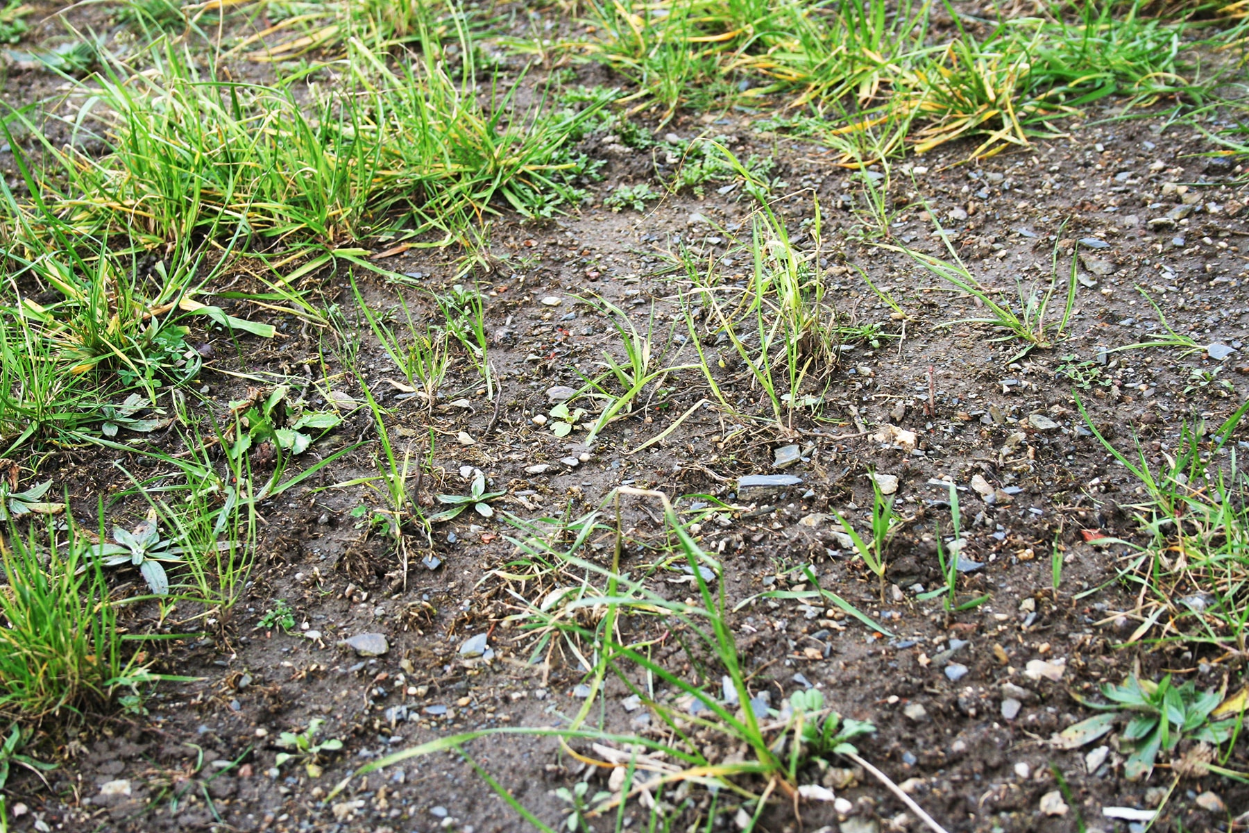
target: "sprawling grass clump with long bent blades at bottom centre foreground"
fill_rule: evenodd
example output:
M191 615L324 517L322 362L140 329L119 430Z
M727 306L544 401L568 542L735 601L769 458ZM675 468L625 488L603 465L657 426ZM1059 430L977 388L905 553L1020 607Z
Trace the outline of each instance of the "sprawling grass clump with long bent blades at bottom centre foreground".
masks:
M782 709L766 706L766 701L752 693L752 674L743 667L738 653L733 627L723 608L722 589L716 589L722 588L719 564L699 548L666 496L621 487L610 495L602 506L610 507L623 497L662 502L669 537L667 547L684 562L693 577L697 596L684 602L667 599L621 572L622 533L618 526L610 567L583 557L580 551L587 543L588 536L595 530L602 528L598 522L600 512L580 520L573 527L567 527L568 532L576 532L573 546L568 550L551 547L546 535L537 540L522 540L526 542L522 543L522 548L546 564L545 569L572 568L595 583L602 582L601 592L576 594L572 601L563 604L566 614L575 614L578 611L593 613L588 624L581 623L576 616L546 616L545 612L550 609L547 604L523 606L523 619L540 624L541 631L547 634L560 632L570 644L580 646L577 654L585 659L590 688L580 713L566 728L505 727L463 732L385 756L356 769L330 793L331 798L346 789L352 778L402 761L455 751L463 756L500 798L522 818L537 829L551 831L550 826L540 821L490 773L477 766L466 748L468 743L480 738L518 734L556 738L568 754L592 766L606 769L627 766L626 774L629 782L637 783L636 779L644 778L644 788L648 792L659 792L684 781L716 786L722 791L718 803L724 806L726 812L741 809L748 819L746 829L756 829L769 797L778 796L787 802L796 799L804 772L828 766L829 761L839 757L863 761L852 741L871 734L874 727L841 718L826 706L821 692L796 692ZM532 527L522 528L532 530ZM567 594L563 594L563 598L566 597ZM618 623L626 617L633 622L629 631L637 633L637 638L632 642L624 642L617 636ZM682 634L679 644L683 646L694 668L693 681L653 658L656 641L637 631L638 624L648 619L662 624L669 632ZM593 713L593 703L603 691L608 677L637 694L666 727L667 732L662 739L656 739L651 734L613 733L603 726L588 722ZM712 686L711 681L716 684ZM661 697L659 687L667 688L671 693ZM682 706L682 703L689 704ZM694 742L696 737L704 739ZM721 737L726 743L709 742L713 737ZM587 742L593 742L593 752L581 752L571 746L575 743L582 746ZM709 752L721 748L726 751L741 748L744 754L739 756L739 759L727 761L718 759L719 753ZM879 777L883 778L883 773ZM627 798L639 791L600 796L597 803L586 801L587 792L570 793L572 798L580 797L580 801L571 802L573 824L570 829L577 828L585 819L617 811L623 803L621 797Z

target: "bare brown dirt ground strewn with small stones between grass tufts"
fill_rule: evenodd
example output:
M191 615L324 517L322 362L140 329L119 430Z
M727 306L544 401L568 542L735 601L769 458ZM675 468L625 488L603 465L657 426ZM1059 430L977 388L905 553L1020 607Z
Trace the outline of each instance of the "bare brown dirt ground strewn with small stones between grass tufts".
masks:
M593 67L577 71L587 85L605 77ZM5 84L41 90L49 81L34 70L10 69ZM490 270L478 269L467 278L478 281L486 300L490 356L501 388L497 402L471 390L465 367L457 371L458 387L470 387L461 397L466 402L432 412L398 388L375 385L387 391L381 403L393 412L395 436L422 455L431 428L437 438L435 473L418 483L417 500L463 493L468 477L461 468L480 468L491 490L506 492L495 502L495 517L470 512L438 525L432 548L413 543L405 584L393 545L352 513L376 503L373 493L363 486L321 488L372 473L375 447L362 446L299 488L264 502L257 566L245 599L214 633L162 641L151 649L157 671L196 682L157 686L141 717L114 714L50 727L45 748L61 766L47 774L47 786L29 773L12 777L9 806L21 802L27 812L11 829L528 829L453 752L397 764L356 779L333 801L325 797L360 764L453 732L568 723L582 706L585 669L558 643L531 661L535 638L516 627L518 598L533 601L551 587L510 572L517 531L501 515L578 517L622 485L673 498L711 495L739 507L729 522L707 523L698 536L703 550L722 559L728 609L767 589L804 588L809 579L793 568L811 563L823 587L893 634L802 599L756 599L729 617L752 686L769 692L773 703L813 686L837 712L873 722L876 736L861 743L864 757L947 829L1143 829L1104 818L1102 808L1158 806L1170 786L1169 773L1129 782L1114 748L1089 772L1087 748L1052 747L1052 734L1088 716L1072 692L1092 696L1133 669L1143 677L1174 673L1202 688L1225 682L1230 688L1242 681L1244 664L1242 656L1203 654L1183 643L1158 644L1158 632L1137 633L1142 617L1132 614L1138 608L1134 591L1115 581L1127 548L1088 541L1140 541L1129 508L1138 483L1085 427L1067 371L1078 365L1085 375L1088 386L1078 392L1108 438L1130 447L1139 436L1147 456L1158 460L1174 448L1183 420L1195 416L1217 425L1244 401L1249 180L1237 159L1203 156L1213 146L1190 127L1169 126L1160 109L1124 114L1122 101L1108 101L1080 120L1062 122L1065 135L1037 140L1028 149L969 162L972 145L955 144L908 157L892 172L892 239L940 255L936 219L987 286L1013 287L1017 278L1048 282L1055 247L1060 271L1077 257L1080 280L1069 338L1013 362L1014 342L994 342L989 328L965 321L983 313L974 298L864 240L861 180L836 166L831 151L761 130L764 114L678 115L659 127L683 140L716 137L741 159L753 154L773 160L774 191L788 195L779 206L794 222L812 216L818 200L824 230L819 267L828 300L846 325L881 328L874 342L847 341L837 366L819 368L828 381L821 405L796 412L783 431L737 422L709 403L694 407L712 398L709 388L701 372L681 371L592 447L576 435L555 437L532 420L550 410L550 387L580 387L602 350L618 343L586 298L626 310L639 328L651 326L656 348L669 363L688 360L684 322L673 303L674 281L683 274L672 269L673 256L683 249L697 262L714 260L727 280L742 280L751 269L749 254L743 260L742 252L731 251L729 236L748 241L743 224L752 205L739 190L721 194L708 186L704 196L669 195L644 212L613 212L602 199L617 185L654 182L673 164L611 136L587 139L583 150L606 162L603 181L592 186L595 201L551 222L521 222L507 214L495 219L488 229ZM422 287L442 290L456 280L457 259L458 252L410 250L383 264ZM861 280L859 269L909 320L891 317L891 307ZM313 278L326 306L337 303L355 320L347 275L321 272ZM403 292L413 308L431 313L417 292L377 276L357 274L356 280L371 301L393 305L396 292ZM1105 352L1159 331L1158 316L1138 286L1170 327L1202 345L1230 347L1227 357ZM558 305L543 298L558 298ZM215 357L201 375L204 393L224 406L242 391L245 385L221 370L290 377L307 386L313 405L327 393L318 388L322 380L333 380L336 396L362 400L340 357L323 350L332 333L280 315L265 320L287 337L272 346L255 340L215 345ZM732 347L717 350L722 382L733 383L743 407L761 408L763 395L748 385ZM397 378L371 337L361 338L356 362L373 381ZM1200 377L1203 383L1194 381L1194 371L1213 376ZM691 408L676 431L634 451ZM917 446L908 451L873 437L891 425L913 431ZM371 416L353 412L313 455L325 457L371 438L373 431ZM457 441L462 432L472 445ZM151 441L166 443L170 452L180 450L172 433ZM784 473L799 477L799 485L762 496L737 493L742 476L779 473L774 452L792 443L801 447L801 460ZM67 486L74 505L90 515L100 495L125 485L115 458L112 451L51 450L42 472L56 488ZM150 466L139 457L125 465L136 476ZM547 468L535 473L542 465ZM846 558L831 518L834 512L864 518L872 506L868 471L898 478L897 507L907 518L891 550L886 603L874 577ZM990 501L970 487L973 476L992 487ZM947 480L959 490L965 540L960 557L975 564L960 574L959 592L988 596L959 613L947 613L939 599L916 598L916 586L931 589L940 583L934 523L948 532ZM693 592L679 569L648 567L653 553L646 545L664 537L661 507L629 497L622 512L628 542L622 568L646 571L664 594ZM1065 553L1057 591L1050 558L1055 546ZM608 543L596 541L588 557L608 557ZM294 609L295 631L259 627L275 599ZM127 624L140 629L152 624L155 613L137 608L127 616ZM175 622L161 628L177 633ZM658 623L637 627L654 629L656 637L663 633ZM311 638L313 632L317 638ZM388 649L377 657L356 656L343 641L361 633L383 634ZM475 634L488 634L492 658L461 653ZM679 642L658 644L657 657L688 668ZM1059 678L1028 676L1034 659L1060 666ZM697 679L702 671L691 673ZM714 684L714 677L711 681ZM626 696L622 687L610 686L595 719L612 729L649 731L638 712L626 711ZM1007 699L1018 711L1004 707ZM300 769L270 774L277 753L274 738L311 718L326 719L323 736L341 738L341 753L327 758L318 779ZM466 751L552 827L566 812L552 791L583 776L606 783L606 774L590 772L552 739L493 738ZM1247 752L1242 743L1227 766L1243 769ZM1047 816L1039 802L1059 788L1059 774L1070 791L1070 812ZM781 802L764 817L763 829L922 829L862 771L817 777L853 809L804 804L799 819ZM111 787L119 782L125 789ZM1195 801L1207 791L1218 794L1224 811L1210 812L1208 803ZM736 829L728 813L711 814L708 823L709 802L708 794L692 791L673 829ZM1229 819L1245 811L1249 789L1243 784L1214 776L1189 778L1178 783L1152 829L1233 829ZM641 811L638 819L644 819ZM629 829L641 823L631 822ZM615 819L591 823L611 829Z

